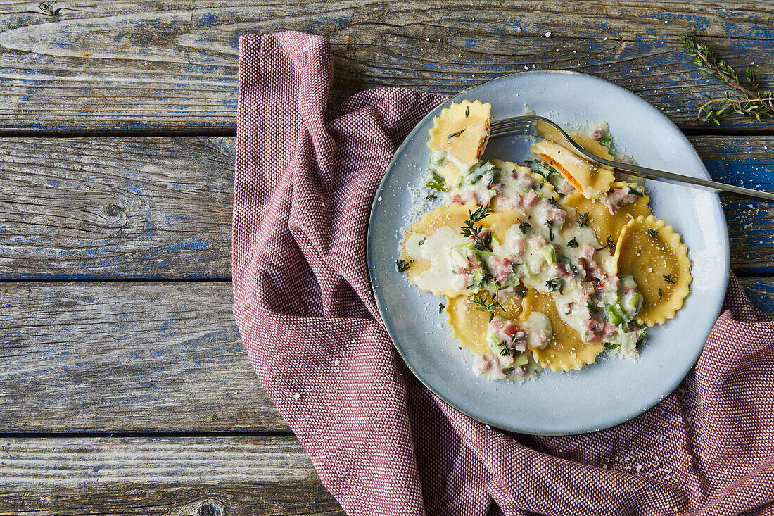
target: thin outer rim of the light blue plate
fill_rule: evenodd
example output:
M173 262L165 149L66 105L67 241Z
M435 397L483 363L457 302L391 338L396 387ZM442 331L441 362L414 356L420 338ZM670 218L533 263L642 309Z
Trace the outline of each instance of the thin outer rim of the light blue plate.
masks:
M709 337L709 334L707 334L707 337L704 339L704 343L698 347L697 353L695 353L695 356L692 356L692 359L690 360L690 367L687 368L685 374L679 376L679 378L674 381L670 382L668 390L665 390L663 393L663 396L660 397L660 399L656 399L656 401L652 404L648 403L645 406L637 405L636 408L633 408L631 411L628 411L625 415L622 415L622 418L620 418L617 422L613 422L611 425L601 426L598 428L591 428L591 427L584 427L580 428L577 432L530 432L529 430L525 430L524 428L513 428L509 426L503 426L499 424L492 423L491 421L486 421L485 419L482 419L480 417L471 415L468 413L464 408L460 408L457 406L457 404L453 404L450 401L446 399L442 394L440 394L436 389L434 389L430 384L426 382L426 380L423 379L423 377L418 374L411 363L409 359L406 357L406 353L403 352L401 347L398 345L398 342L395 338L395 331L392 326L392 321L389 317L385 317L387 314L387 311L384 307L384 302L382 300L382 296L379 295L380 287L378 284L375 285L375 278L373 277L372 273L372 223L374 220L374 214L377 207L377 199L379 198L380 194L382 194L382 189L385 187L385 182L389 176L390 170L392 170L392 167L396 166L396 158L401 155L401 151L405 146L408 145L409 141L412 139L411 137L414 135L414 132L423 125L424 122L426 122L427 119L430 119L434 117L434 113L437 112L439 108L448 107L451 103L454 101L458 101L459 98L465 94L467 94L469 91L473 91L477 88L483 87L485 84L491 84L499 81L507 81L509 79L512 79L514 77L524 76L524 75L543 75L543 74L565 74L565 75L577 75L580 77L584 77L587 79L592 79L594 81L601 81L604 84L608 86L612 86L614 88L620 89L622 91L625 91L625 93L628 93L628 95L633 95L635 98L639 99L639 101L644 102L646 105L648 105L650 108L653 109L653 111L656 113L656 115L660 116L664 121L666 121L670 126L672 126L673 129L676 130L680 136L683 137L683 140L685 143L688 144L690 147L690 150L693 152L694 157L697 158L698 163L700 163L700 173L704 176L705 179L711 179L712 177L709 174L709 171L707 170L707 167L704 165L704 160L701 159L699 156L699 153L696 150L696 147L694 147L693 143L690 143L690 140L687 138L685 133L678 127L668 116L666 116L663 112L661 112L656 106L650 104L649 101L646 101L646 99L640 97L635 92L628 90L628 88L624 88L623 86L619 86L618 84L615 84L612 81L608 81L607 79L603 79L602 77L598 77L596 75L592 74L585 74L583 72L578 71L571 71L571 70L562 70L562 69L546 69L546 70L531 70L531 71L523 71L523 72L516 72L513 74L505 74L500 77L495 77L493 79L490 79L489 81L482 82L481 84L476 84L474 86L471 86L471 88L465 88L464 90L459 91L457 94L447 98L446 100L440 102L438 105L433 107L430 112L428 112L419 122L416 123L416 125L409 131L409 133L406 135L406 138L402 141L402 143L398 146L398 148L395 150L395 153L393 153L392 158L390 159L387 167L385 168L385 172L382 175L382 179L379 181L379 185L376 188L374 192L374 198L371 204L371 210L368 215L368 226L366 229L366 239L365 239L365 254L366 254L366 267L368 269L368 283L371 285L372 294L374 297L374 301L376 304L376 309L378 311L379 317L382 319L382 325L384 325L385 330L387 331L387 334L389 335L390 340L392 341L392 346L396 349L399 356L401 357L403 363L408 367L408 369L411 371L414 377L416 377L417 380L420 381L421 384L423 384L424 387L426 387L430 392L432 392L436 397L438 397L441 401L444 401L445 404L450 406L451 408L454 408L454 410L461 412L464 415L467 415L467 417L474 419L475 421L478 421L485 425L491 425L495 428L501 428L503 430L506 430L508 432L516 432L516 433L524 433L529 435L539 435L539 436L559 436L559 435L584 435L592 432L599 432L601 430L605 430L608 428L615 428L618 425L622 425L627 421L632 421L633 419L639 417L640 415L645 414L647 411L649 411L651 408L655 407L657 404L659 404L661 401L663 401L667 396L673 393L674 390L685 380L685 378L690 374L690 371L694 369L696 366L697 360L701 356L701 353L704 351L704 346L706 346L707 338ZM728 282L731 278L731 246L728 238L728 221L725 218L725 214L723 211L723 205L721 204L720 200L720 194L717 192L713 193L714 195L714 209L716 210L717 214L721 216L721 220L724 221L724 224L721 225L721 232L723 236L723 241L725 243L725 252L722 256L721 263L721 270L723 271L723 276L721 277L721 284L725 284L726 288L728 289ZM723 312L723 303L721 303L720 308L717 310L717 314L714 315L714 319L717 320L717 318L722 314Z

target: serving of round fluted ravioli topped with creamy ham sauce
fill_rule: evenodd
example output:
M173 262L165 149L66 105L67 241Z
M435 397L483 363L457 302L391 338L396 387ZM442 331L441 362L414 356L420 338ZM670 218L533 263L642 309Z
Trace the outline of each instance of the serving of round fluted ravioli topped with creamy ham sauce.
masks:
M426 198L396 266L440 296L452 335L488 380L636 359L691 281L687 247L650 214L641 184L578 156L550 130L526 160L481 159L491 105L462 101L430 129ZM601 129L574 139L620 157Z

